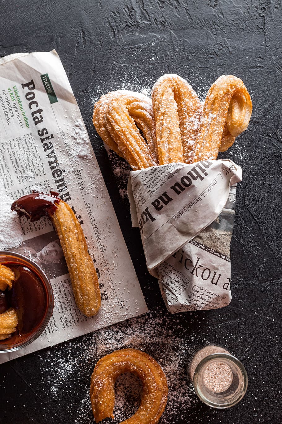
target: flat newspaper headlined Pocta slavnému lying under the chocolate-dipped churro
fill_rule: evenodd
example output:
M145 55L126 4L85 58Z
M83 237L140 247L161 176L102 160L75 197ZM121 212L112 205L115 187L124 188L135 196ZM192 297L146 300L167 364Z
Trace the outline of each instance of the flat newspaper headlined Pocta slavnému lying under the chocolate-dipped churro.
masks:
M76 307L57 234L48 218L20 218L24 243L10 249L33 258L49 276L55 307L44 333L0 363L147 311L118 220L56 51L0 60L0 184L16 200L32 190L59 192L87 238L101 289L101 309ZM0 249L3 246L0 246Z

